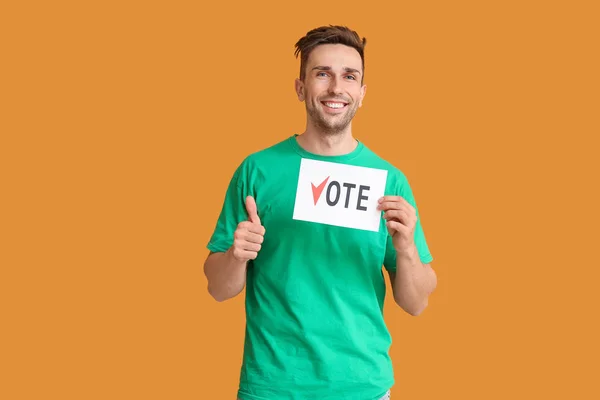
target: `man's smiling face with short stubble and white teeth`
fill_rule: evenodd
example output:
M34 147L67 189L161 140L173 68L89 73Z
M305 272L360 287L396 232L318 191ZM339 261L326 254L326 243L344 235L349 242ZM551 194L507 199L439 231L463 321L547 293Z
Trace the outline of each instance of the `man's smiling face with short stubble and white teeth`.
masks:
M352 121L366 93L361 84L362 60L352 47L317 46L305 66L304 82L296 80L300 101L312 123L324 133L342 132Z

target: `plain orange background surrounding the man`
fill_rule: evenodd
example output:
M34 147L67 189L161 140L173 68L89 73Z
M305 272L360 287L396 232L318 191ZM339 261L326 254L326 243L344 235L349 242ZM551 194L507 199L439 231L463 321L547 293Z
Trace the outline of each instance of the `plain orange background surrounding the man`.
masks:
M242 158L304 129L322 24L367 37L354 133L439 275L420 317L388 298L392 398L600 398L593 3L3 3L0 398L235 398L205 245Z

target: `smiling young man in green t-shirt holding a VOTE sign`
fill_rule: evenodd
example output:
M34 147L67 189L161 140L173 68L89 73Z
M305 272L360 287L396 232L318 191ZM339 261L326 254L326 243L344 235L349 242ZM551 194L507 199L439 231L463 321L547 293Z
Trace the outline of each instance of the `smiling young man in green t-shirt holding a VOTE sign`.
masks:
M327 26L296 44L306 130L238 166L204 269L218 301L246 287L240 400L378 400L394 384L387 270L411 315L436 286L404 174L354 138L364 46Z

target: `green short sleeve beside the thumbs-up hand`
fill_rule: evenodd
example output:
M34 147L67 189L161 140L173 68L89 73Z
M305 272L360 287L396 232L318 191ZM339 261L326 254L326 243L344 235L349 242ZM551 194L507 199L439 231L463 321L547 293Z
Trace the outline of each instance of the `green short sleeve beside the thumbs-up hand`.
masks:
M227 251L233 245L233 234L238 224L248 218L246 213L247 189L243 164L237 168L225 192L225 199L207 248L212 252Z

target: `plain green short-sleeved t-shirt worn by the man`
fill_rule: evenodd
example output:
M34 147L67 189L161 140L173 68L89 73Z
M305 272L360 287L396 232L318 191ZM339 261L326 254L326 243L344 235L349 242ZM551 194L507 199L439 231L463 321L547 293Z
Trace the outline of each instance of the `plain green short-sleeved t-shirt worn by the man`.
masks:
M313 163L312 169L303 172L303 163ZM232 245L238 223L248 219L245 198L253 196L266 232L258 257L248 264L242 400L376 400L394 384L382 266L394 271L396 253L382 212L378 228L346 224L366 215L360 212L371 204L368 182L344 185L328 166L383 170L385 194L403 196L416 208L404 174L360 141L349 154L321 156L292 135L240 164L208 249L222 252ZM327 177L315 175L321 170ZM313 174L312 188L307 173ZM345 173L345 181L353 174ZM303 214L296 210L300 206ZM317 206L321 212L310 220L306 215ZM331 223L327 218L335 210L337 222ZM428 263L432 256L420 220L415 243Z

